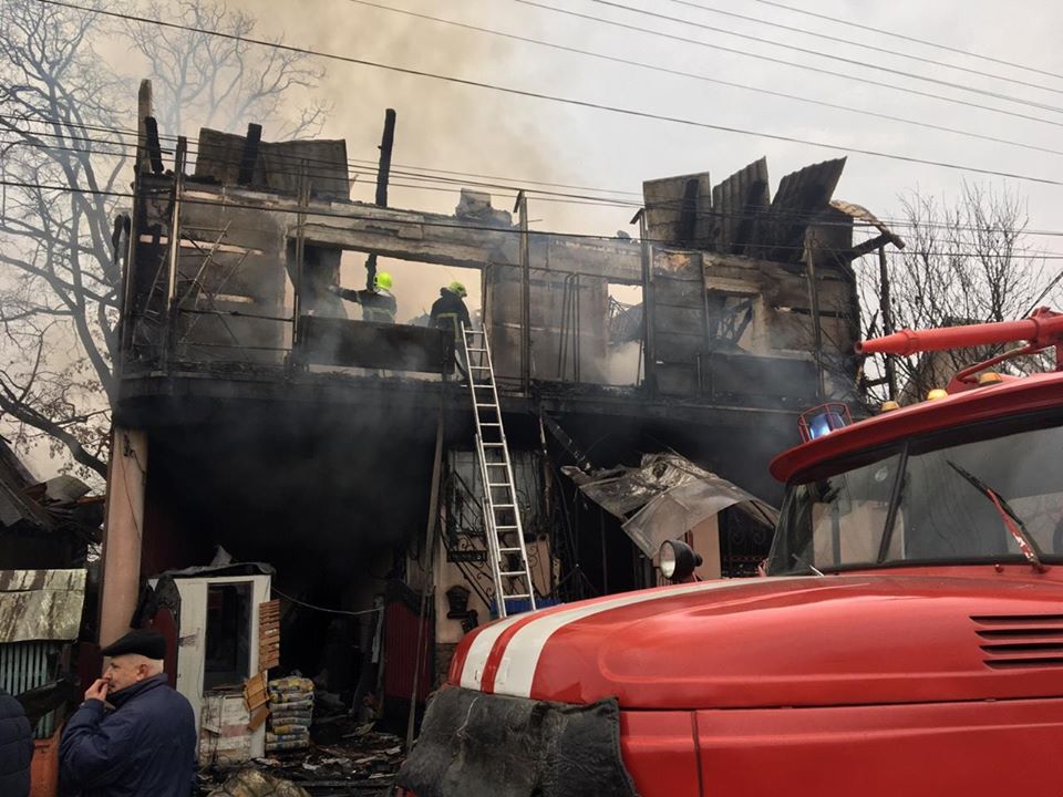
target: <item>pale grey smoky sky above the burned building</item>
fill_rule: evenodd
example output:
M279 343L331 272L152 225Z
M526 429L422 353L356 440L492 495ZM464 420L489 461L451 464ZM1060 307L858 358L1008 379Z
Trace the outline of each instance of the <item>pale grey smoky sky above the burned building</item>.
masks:
M1063 93L1060 93L1063 91L1063 80L875 37L869 32L853 31L753 0L696 1L758 17L765 21L850 37L877 46L1043 83L1053 86L1055 91L1028 89L873 53L856 46L699 11L671 0L618 0L654 12L811 49L822 49L863 62L878 63L1063 107ZM577 20L528 8L514 0L380 2L652 62L670 69L699 72L833 103L1060 148L1059 128L1049 124L868 86L846 80L842 74L815 74L618 30L600 21ZM788 52L721 33L633 14L591 0L544 2L601 19L618 20L795 63L863 75L1041 116L1056 123L1063 122L1063 114L1059 112L1020 106L861 66L847 66L814 55ZM798 0L793 2L796 4ZM239 4L259 18L264 31L282 33L292 44L329 52L713 124L749 127L1002 172L1063 176L1055 169L1059 157L1055 155L814 107L632 66L602 63L585 56L365 8L350 0L241 0ZM1016 7L958 0L935 3L904 0L888 4L825 0L807 4L806 8L1063 74L1063 58L1060 56L1054 41L1063 11L1054 3L1024 2ZM382 111L388 105L399 111L395 157L401 163L625 190L638 190L644 178L703 169L712 172L716 179L723 178L761 155L768 156L773 180L777 180L789 170L837 154L826 148L688 128L664 122L636 120L601 111L506 96L371 68L338 62L327 62L327 66L329 75L322 93L336 103L336 113L324 133L347 138L351 157L374 157ZM864 204L884 217L890 217L898 213L898 193L917 185L936 194L952 193L962 178L962 173L950 169L854 155L849 158L838 195ZM1063 227L1055 221L1055 210L1060 206L1059 197L1063 195L1063 187L1030 183L1019 184L1018 187L1030 199L1032 227ZM363 196L368 196L368 189ZM450 209L453 207L454 197L436 192L396 188L393 192L393 201L396 205ZM612 232L623 227L630 217L622 208L602 211L541 201L533 201L532 215L541 219L537 225L541 228L580 229L588 232ZM1053 241L1044 239L1044 242L1051 245Z

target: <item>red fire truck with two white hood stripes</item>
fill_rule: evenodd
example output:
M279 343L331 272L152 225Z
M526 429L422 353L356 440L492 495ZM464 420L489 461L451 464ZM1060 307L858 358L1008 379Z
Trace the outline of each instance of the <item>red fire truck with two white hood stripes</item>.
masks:
M998 375L994 358L943 397L809 418L771 465L787 490L767 578L467 635L400 783L419 797L1063 794L1063 315L861 349L1009 341L1055 346L1055 371Z

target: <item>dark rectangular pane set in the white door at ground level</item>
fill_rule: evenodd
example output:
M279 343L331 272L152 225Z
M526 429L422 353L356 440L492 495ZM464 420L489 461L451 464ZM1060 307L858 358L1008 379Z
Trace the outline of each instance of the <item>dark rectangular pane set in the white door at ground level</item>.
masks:
M251 583L207 588L207 629L203 687L244 683L251 661Z

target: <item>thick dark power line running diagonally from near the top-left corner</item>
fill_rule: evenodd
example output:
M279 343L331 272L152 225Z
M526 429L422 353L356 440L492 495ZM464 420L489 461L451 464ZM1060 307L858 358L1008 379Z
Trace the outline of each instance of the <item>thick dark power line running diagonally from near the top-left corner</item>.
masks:
M49 6L58 6L62 8L75 9L79 11L86 11L90 13L99 13L107 17L114 17L117 19L124 19L132 22L140 22L144 24L152 24L156 27L171 28L176 30L184 30L184 31L200 33L205 35L220 37L224 39L229 39L233 41L241 41L241 42L245 42L248 44L255 44L258 46L267 46L276 50L283 50L286 52L298 52L307 55L313 55L317 58L327 58L327 59L340 61L343 63L358 64L361 66L371 66L374 69L382 69L390 72L396 72L400 74L414 75L417 77L427 77L431 80L436 80L445 83L453 83L455 85L485 89L487 91L494 91L500 94L508 94L510 96L520 96L520 97L533 99L533 100L541 100L545 102L555 102L555 103L560 103L565 105L571 105L574 107L605 111L607 113L613 113L613 114L623 115L628 117L644 118L644 120L651 120L656 122L668 122L670 124L683 125L687 127L694 127L699 130L711 130L718 133L731 133L734 135L745 135L745 136L752 136L756 138L766 138L770 141L781 141L789 144L803 144L805 146L814 146L818 148L840 151L840 152L847 152L847 153L859 154L859 155L867 155L869 157L886 158L890 161L898 161L901 163L914 163L914 164L920 164L923 166L937 166L939 168L948 168L948 169L954 169L959 172L970 172L972 174L984 174L984 175L991 175L994 177L1008 177L1011 179L1021 179L1021 180L1028 180L1031 183L1040 183L1043 185L1063 186L1063 182L1051 179L1047 177L1038 177L1034 175L1023 175L1023 174L1016 174L1016 173L1010 173L1010 172L998 172L997 169L980 168L976 166L964 166L961 164L953 164L945 161L920 158L920 157L915 157L910 155L898 155L896 153L879 152L876 149L868 149L864 147L829 144L825 142L812 141L808 138L801 138L797 136L782 135L778 133L763 133L758 131L746 130L743 127L711 124L709 122L700 122L696 120L683 118L680 116L670 116L667 114L651 113L648 111L639 111L636 108L607 105L605 103L592 102L589 100L576 100L572 97L561 97L561 96L556 96L551 94L546 94L544 92L530 91L525 89L514 89L513 86L503 86L503 85L485 83L482 81L474 81L474 80L464 79L464 77L455 77L453 75L441 75L441 74L427 72L424 70L415 70L406 66L395 66L392 64L383 64L375 61L369 61L367 59L355 59L349 55L339 55L337 53L328 53L319 50L310 50L307 48L297 48L290 44L280 44L277 42L270 42L262 39L252 39L250 37L240 37L233 33L224 33L221 31L211 31L204 28L196 28L194 25L179 24L177 22L165 22L161 20L153 20L145 17L135 17L133 14L120 13L117 11L96 11L93 9L86 9L82 6L76 6L74 3L63 2L62 0L38 0L38 2L49 4ZM528 2L528 0L517 0L517 2Z

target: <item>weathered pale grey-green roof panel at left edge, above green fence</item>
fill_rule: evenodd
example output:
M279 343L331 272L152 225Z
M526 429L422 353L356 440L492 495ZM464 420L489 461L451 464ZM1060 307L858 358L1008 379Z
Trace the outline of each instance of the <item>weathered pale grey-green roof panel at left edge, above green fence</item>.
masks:
M0 643L74 640L84 570L0 570Z

